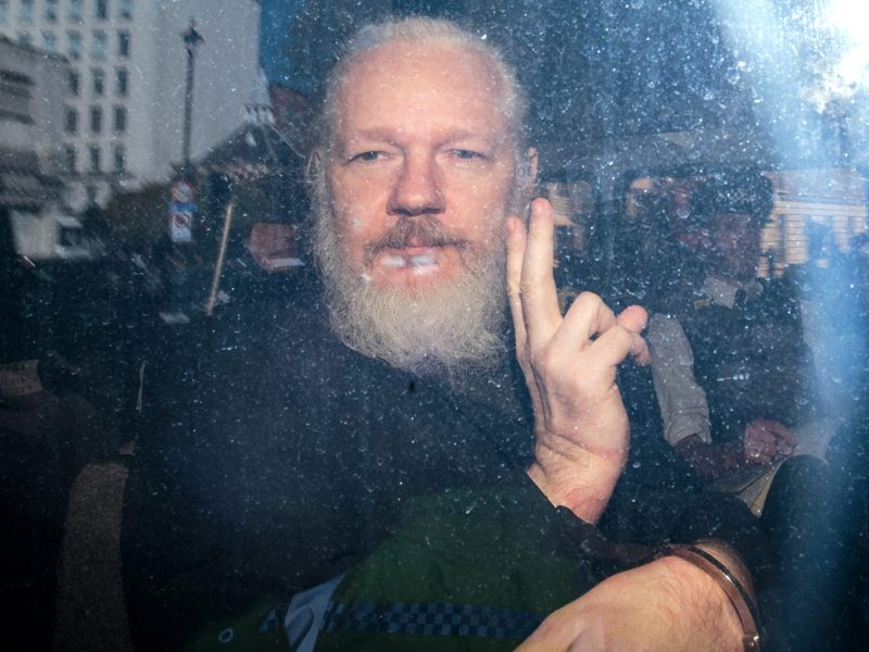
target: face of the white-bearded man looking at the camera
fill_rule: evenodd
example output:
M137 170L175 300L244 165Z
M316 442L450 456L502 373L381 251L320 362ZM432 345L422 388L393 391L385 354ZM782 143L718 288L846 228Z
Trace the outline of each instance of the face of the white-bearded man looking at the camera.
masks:
M391 43L349 68L326 161L349 267L416 294L503 247L516 176L498 77L474 52Z

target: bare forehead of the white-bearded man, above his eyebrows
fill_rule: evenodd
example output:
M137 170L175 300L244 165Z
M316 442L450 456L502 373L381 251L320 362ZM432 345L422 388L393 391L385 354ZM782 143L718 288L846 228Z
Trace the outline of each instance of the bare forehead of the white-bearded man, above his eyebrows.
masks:
M452 45L393 42L356 57L336 96L336 136L507 135L503 83L487 59Z

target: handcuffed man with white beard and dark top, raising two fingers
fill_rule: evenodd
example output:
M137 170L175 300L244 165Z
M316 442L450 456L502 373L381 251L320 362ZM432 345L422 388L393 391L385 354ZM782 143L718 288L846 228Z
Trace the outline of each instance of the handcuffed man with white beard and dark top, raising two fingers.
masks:
M617 318L584 294L561 315L552 209L534 201L528 231L516 216L537 161L500 54L446 22L369 27L324 106L322 301L226 317L192 417L137 451L123 540L137 642L172 648L264 593L329 579L394 534L406 505L444 492L494 490L559 541L567 512L646 546L754 542L723 498L697 512L662 487L614 497L629 451L616 371L647 355L645 314ZM554 541L521 529L552 556ZM742 594L722 588L734 576ZM527 645L743 649L750 584L720 542L679 549L580 582Z

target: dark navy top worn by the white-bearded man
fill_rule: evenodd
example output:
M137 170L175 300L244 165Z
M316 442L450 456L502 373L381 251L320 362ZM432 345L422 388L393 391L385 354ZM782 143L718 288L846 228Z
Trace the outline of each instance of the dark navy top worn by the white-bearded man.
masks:
M177 648L206 619L351 568L408 500L529 490L532 423L512 365L457 392L351 351L322 315L315 302L218 322L166 428L139 442L122 537L139 645ZM761 547L741 504L696 510L687 489L647 485L622 478L605 531Z

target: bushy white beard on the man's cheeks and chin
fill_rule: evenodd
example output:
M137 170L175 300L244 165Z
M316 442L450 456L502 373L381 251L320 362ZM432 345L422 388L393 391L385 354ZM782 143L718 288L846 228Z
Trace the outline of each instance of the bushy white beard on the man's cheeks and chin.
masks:
M496 366L506 353L504 229L493 229L493 242L459 250L458 278L416 294L379 288L347 263L324 185L315 188L314 251L335 334L364 355L451 383Z

